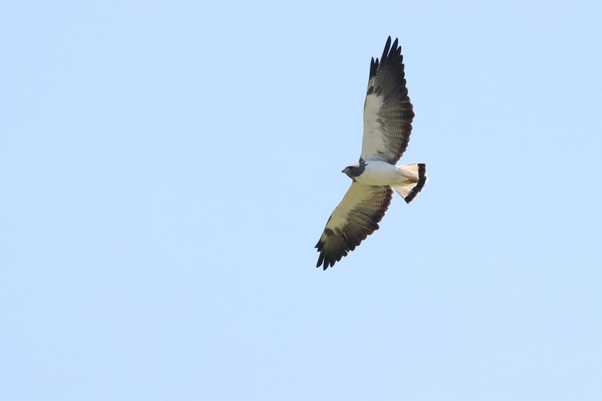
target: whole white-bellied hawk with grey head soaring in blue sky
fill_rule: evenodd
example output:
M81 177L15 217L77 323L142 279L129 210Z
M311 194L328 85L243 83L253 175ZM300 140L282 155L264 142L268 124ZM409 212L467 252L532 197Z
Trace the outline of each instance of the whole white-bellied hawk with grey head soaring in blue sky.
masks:
M317 267L334 266L362 240L379 229L393 197L393 188L410 203L427 183L426 164L397 166L408 147L414 111L403 72L402 47L397 39L370 63L364 103L364 139L359 162L343 169L353 180L349 191L332 212L315 246Z

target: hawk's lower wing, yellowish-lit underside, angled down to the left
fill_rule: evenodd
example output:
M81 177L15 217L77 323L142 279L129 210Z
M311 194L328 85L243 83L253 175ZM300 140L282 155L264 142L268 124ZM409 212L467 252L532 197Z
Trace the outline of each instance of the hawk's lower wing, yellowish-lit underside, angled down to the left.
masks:
M378 230L378 222L385 215L391 203L393 190L388 185L370 186L352 183L341 200L315 245L320 257L318 264L334 266L335 262L347 256L362 240Z

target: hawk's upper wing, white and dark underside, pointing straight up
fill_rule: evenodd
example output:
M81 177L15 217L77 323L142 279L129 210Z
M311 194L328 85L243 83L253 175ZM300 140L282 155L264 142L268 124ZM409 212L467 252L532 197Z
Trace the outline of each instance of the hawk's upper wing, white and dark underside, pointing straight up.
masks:
M364 103L364 139L361 157L395 165L408 147L414 111L403 78L402 47L386 40L380 62L370 64Z

